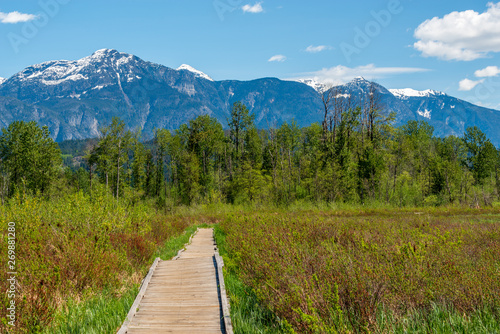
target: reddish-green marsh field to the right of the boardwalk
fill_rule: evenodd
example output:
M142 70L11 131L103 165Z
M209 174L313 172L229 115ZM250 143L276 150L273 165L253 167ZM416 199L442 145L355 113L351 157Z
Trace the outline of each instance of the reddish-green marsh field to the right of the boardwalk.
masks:
M236 319L252 314L238 304L253 293L296 333L500 333L498 209L341 210L220 223L226 272L243 284L229 289Z

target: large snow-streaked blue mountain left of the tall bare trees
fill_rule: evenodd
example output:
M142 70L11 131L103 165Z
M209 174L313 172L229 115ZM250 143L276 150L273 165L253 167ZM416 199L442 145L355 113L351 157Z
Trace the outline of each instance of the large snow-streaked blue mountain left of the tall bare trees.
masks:
M293 118L319 121L317 92L300 83L264 78L213 81L183 65L175 70L116 50L103 49L76 61L30 66L0 86L0 126L36 120L57 141L98 135L113 116L150 138L155 128L176 129L198 115L227 124L231 106L242 101L258 127Z

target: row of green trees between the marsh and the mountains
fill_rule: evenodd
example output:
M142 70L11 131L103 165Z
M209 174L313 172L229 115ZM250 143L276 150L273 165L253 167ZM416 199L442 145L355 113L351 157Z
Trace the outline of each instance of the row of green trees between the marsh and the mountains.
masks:
M157 129L142 141L119 118L85 153L85 168L62 167L47 127L14 122L0 136L2 200L16 191L61 187L115 198L154 198L160 206L193 203L295 201L396 206L500 200L500 151L477 127L439 138L424 121L394 127L376 89L353 97L339 88L323 96L323 121L257 129L245 105L233 105L228 127L209 115L175 131Z

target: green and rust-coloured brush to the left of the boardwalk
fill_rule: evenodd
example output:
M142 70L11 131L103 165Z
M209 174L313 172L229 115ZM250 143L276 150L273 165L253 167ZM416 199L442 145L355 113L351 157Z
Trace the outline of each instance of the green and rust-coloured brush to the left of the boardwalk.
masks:
M7 222L16 222L15 332L41 332L69 301L100 298L103 291L120 298L140 283L155 256L174 252L165 242L205 219L199 217L164 213L127 198L116 201L100 185L92 196L10 199L0 206L0 253L7 254ZM7 270L0 272L2 291L7 291L6 275ZM1 293L0 332L12 330L5 321L8 302Z

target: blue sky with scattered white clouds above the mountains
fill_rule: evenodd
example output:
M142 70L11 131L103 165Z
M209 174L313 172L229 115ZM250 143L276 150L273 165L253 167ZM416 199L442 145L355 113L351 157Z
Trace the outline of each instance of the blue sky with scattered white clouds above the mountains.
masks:
M500 110L500 2L0 0L0 77L116 49L214 80L357 76Z

